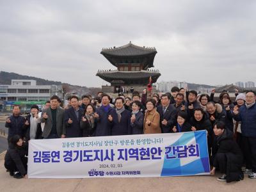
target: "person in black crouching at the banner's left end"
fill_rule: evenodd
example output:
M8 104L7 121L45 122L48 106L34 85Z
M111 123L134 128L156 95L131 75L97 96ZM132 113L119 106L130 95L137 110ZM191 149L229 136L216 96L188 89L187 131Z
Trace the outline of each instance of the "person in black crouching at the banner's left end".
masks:
M15 134L10 138L10 147L4 157L4 167L16 179L26 178L28 170L28 145Z

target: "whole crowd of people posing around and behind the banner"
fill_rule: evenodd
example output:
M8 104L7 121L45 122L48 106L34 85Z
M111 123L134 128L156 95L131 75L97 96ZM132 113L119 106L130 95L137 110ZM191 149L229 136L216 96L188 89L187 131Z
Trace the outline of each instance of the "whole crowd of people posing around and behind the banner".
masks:
M26 118L20 116L19 106L13 106L13 115L6 119L9 149L4 165L13 177L24 177L26 143L32 139L206 130L211 174L220 170L223 175L218 180L227 182L242 180L243 173L255 179L255 98L253 91L236 93L232 102L228 92L222 92L214 100L214 91L198 95L195 90L173 87L171 93L154 93L150 98L146 90L142 94L134 91L132 97L120 93L115 102L102 92L95 99L83 95L79 100L72 95L68 106L61 108L54 95L40 113L38 106L31 106ZM26 142L20 146L20 140Z

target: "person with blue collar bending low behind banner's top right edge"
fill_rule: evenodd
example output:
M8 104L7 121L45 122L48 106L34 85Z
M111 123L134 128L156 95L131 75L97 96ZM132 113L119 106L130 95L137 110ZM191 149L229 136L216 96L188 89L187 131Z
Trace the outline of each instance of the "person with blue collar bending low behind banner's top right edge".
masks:
M188 115L185 111L180 111L177 115L177 124L173 126L173 132L188 132L192 126L187 122Z

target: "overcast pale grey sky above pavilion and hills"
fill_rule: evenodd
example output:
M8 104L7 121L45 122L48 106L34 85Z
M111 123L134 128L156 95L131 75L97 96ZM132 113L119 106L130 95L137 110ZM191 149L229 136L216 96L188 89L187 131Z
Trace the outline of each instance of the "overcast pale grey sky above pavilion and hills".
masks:
M256 81L256 1L0 0L0 70L101 86L100 51L156 47L160 81Z

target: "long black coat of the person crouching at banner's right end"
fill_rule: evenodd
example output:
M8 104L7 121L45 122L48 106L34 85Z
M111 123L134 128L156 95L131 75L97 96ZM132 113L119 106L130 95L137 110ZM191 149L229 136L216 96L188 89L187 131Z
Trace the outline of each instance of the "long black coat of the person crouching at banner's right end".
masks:
M223 153L227 157L227 182L239 180L241 168L243 165L243 154L233 140L233 134L228 129L225 129L221 136L217 137L217 154ZM216 166L216 160L213 161L213 166Z

